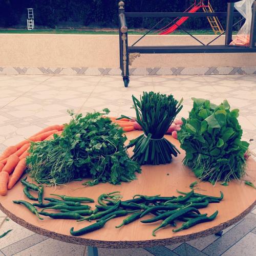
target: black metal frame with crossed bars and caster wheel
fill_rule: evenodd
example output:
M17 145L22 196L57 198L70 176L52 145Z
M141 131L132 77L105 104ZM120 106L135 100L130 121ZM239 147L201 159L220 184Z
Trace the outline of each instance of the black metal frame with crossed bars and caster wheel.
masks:
M129 78L129 65L140 54L158 54L158 53L248 53L256 52L256 0L253 3L251 32L250 32L250 44L249 46L232 46L229 45L232 41L232 29L233 17L240 16L238 12L234 12L234 3L238 1L229 0L227 3L227 12L213 12L213 13L187 13L187 12L125 12L124 3L119 2L119 49L120 49L120 69L122 71L122 77L124 86L127 87L130 81ZM218 35L215 39L204 44L198 38L188 33L181 26L176 24L179 28L185 31L187 34L195 38L201 43L199 46L135 46L146 34L152 31L156 25L140 37L132 46L128 46L128 27L126 24L126 17L209 17L209 16L226 16L226 30ZM160 22L163 19L160 20ZM159 22L159 23L160 23ZM159 24L158 23L158 24ZM213 41L219 38L221 35L225 35L225 45L210 45Z

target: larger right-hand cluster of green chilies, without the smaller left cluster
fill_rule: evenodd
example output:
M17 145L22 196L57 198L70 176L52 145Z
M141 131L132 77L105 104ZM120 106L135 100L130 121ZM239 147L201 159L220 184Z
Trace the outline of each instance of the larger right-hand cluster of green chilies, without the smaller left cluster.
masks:
M194 193L194 190L191 190L188 193L182 192L183 195L179 197L135 195L133 199L120 201L118 196L113 196L116 193L119 192L100 195L98 197L99 205L96 205L93 214L77 220L96 220L96 223L77 231L71 228L70 233L73 236L82 236L102 228L106 221L129 214L131 215L126 217L116 228L136 221L145 215L153 214L155 217L141 221L142 223L153 223L162 220L162 223L153 230L153 236L158 229L169 224L176 226L176 220L185 222L180 228L174 229L174 232L177 232L202 222L214 220L218 211L207 217L207 214L201 214L198 209L207 207L209 203L218 203L223 199L222 192L220 197L211 197Z

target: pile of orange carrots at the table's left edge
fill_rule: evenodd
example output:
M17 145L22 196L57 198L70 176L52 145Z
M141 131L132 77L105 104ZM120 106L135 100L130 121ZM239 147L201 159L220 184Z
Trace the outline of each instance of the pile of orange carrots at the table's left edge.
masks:
M9 146L0 156L0 195L5 196L26 169L26 157L29 155L31 141L53 139L53 134L61 134L63 125L51 125L14 146Z

